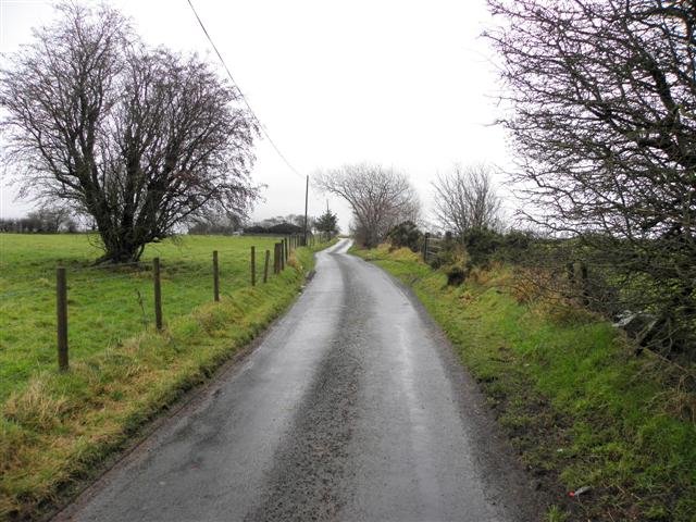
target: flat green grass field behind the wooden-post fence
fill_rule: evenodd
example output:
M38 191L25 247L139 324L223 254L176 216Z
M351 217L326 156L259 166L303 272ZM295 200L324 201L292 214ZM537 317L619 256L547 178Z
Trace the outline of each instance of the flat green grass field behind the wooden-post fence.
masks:
M185 236L150 245L137 266L95 268L87 235L0 235L0 401L57 361L55 268L67 269L70 356L84 360L117 346L154 322L151 259L162 262L165 321L213 297L212 251L219 250L221 294L250 284L250 247L273 238ZM257 260L263 268L262 256Z

